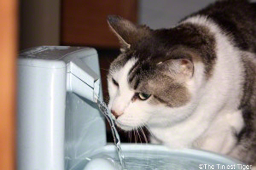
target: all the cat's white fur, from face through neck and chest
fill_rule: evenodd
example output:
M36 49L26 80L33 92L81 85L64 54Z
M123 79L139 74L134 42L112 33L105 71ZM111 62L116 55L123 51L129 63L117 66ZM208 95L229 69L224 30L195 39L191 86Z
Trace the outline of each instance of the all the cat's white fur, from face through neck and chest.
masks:
M113 73L119 88L108 81L109 107L120 115L116 123L124 130L148 125L157 138L154 142L160 141L172 148L196 147L229 153L236 142L233 133L239 132L244 125L241 111L237 110L243 81L241 54L218 26L206 17L191 17L180 24L183 23L209 28L216 40L217 60L212 77L206 80L204 65L199 62L195 63L194 76L187 82L191 101L179 108L151 106L140 100L131 102L134 91L128 87L127 74L136 62L131 59Z

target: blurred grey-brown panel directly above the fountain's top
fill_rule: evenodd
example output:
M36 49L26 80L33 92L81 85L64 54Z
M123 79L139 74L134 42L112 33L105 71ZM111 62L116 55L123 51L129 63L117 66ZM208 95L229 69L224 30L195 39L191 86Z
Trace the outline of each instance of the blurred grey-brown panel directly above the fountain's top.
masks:
M20 0L20 50L60 44L61 0Z

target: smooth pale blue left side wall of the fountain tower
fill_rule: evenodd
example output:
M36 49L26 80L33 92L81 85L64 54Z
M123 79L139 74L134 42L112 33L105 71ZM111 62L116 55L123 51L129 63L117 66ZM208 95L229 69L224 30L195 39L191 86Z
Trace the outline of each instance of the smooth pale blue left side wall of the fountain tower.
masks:
M63 170L66 65L24 60L18 65L18 170Z

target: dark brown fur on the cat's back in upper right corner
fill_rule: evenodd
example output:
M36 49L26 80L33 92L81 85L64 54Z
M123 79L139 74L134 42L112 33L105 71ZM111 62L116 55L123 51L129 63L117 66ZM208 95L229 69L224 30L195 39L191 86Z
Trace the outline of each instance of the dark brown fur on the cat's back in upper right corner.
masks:
M215 22L240 50L256 53L256 3L220 0L189 17L198 15Z

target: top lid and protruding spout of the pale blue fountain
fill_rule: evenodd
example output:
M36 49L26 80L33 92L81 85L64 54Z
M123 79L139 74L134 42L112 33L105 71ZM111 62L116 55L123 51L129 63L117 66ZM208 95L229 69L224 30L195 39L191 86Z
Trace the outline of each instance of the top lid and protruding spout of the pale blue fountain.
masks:
M99 74L96 74L87 62L82 61L90 56L97 56L97 51L87 47L39 46L22 51L19 56L19 65L59 68L63 67L61 62L65 62L67 91L96 102L100 88Z

